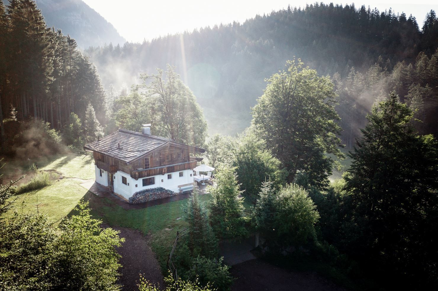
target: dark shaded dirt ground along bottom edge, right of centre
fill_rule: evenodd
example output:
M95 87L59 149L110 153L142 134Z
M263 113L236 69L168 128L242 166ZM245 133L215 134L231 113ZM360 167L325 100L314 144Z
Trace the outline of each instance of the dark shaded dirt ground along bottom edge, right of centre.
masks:
M316 274L285 270L260 259L234 265L231 274L237 278L232 291L345 291Z

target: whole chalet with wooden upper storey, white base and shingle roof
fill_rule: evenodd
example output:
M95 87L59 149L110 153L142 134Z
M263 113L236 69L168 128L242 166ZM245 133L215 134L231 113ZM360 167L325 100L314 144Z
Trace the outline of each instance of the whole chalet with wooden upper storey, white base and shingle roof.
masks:
M150 125L149 125L150 126ZM84 146L93 152L96 182L129 199L135 192L163 187L173 192L193 189L193 168L201 149L142 132L119 129Z

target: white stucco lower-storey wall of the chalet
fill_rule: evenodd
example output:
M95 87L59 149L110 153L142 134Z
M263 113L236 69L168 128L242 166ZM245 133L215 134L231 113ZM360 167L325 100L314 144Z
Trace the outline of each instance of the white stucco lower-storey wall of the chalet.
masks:
M179 175L180 172L183 172L183 177L180 177ZM96 173L97 175L99 175L99 171L97 171ZM151 176L151 177L155 177L155 184L143 187L143 179L145 178L140 178L138 180L135 180L134 178L131 178L130 174L124 173L122 171L118 171L117 173L113 174L114 192L125 197L126 199L131 197L137 191L156 188L156 187L163 187L165 189L169 189L170 191L178 193L180 191L178 185L193 183L194 181L193 177L190 177L190 174L192 173L193 170L183 170L173 173L166 173L164 175ZM172 179L167 179L167 174L172 174ZM129 185L125 185L122 183L122 176L126 177L127 184ZM163 181L161 182L161 180ZM137 185L137 187L135 187L135 185Z

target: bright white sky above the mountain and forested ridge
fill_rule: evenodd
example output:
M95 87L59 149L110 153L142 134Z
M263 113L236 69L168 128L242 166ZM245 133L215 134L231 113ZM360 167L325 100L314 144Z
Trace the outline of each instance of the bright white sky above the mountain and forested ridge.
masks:
M243 23L256 14L263 15L272 10L291 7L305 7L306 3L315 1L288 0L83 0L90 7L105 17L117 29L119 34L129 42L142 42L159 36L194 28L227 24L233 21ZM320 1L319 1L320 2ZM330 3L325 1L324 3ZM350 4L353 2L333 1L333 3ZM120 5L122 4L122 5ZM398 1L367 1L354 2L359 8L368 5L380 11L392 10L397 13L412 14L417 18L421 28L426 13L431 9L438 11L438 2L432 0L417 0L415 2Z

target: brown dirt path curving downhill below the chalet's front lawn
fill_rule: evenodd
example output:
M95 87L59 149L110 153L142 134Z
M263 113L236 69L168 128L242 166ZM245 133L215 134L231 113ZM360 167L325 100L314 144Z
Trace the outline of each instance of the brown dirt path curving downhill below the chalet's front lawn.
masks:
M102 224L102 227L109 225ZM121 267L119 284L123 285L122 290L132 291L138 290L137 284L139 274L142 274L150 282L164 286L163 276L161 274L158 260L155 253L147 245L147 239L138 230L127 229L123 227L112 227L120 231L120 237L125 238L125 242L118 249L120 256Z

